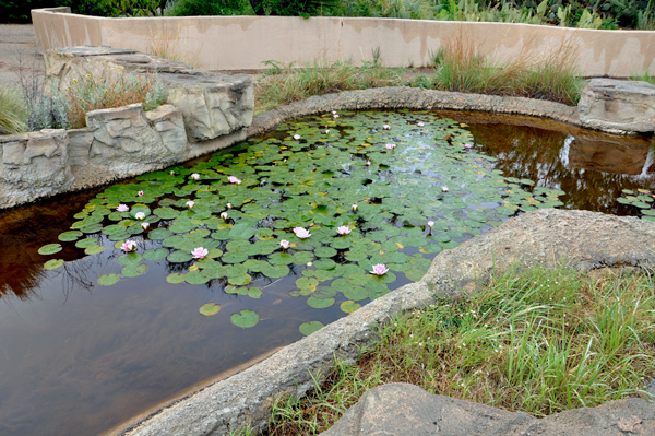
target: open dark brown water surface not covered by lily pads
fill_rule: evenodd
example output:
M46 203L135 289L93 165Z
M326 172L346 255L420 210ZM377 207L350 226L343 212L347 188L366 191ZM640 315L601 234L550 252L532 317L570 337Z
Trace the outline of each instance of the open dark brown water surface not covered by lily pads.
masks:
M550 121L440 111L466 122L478 152L498 157L507 177L567 192L568 209L636 214L618 203L622 189L655 189L652 139L622 139ZM312 309L291 298L302 267L272 281L260 299L210 285L169 284L166 261L147 274L97 285L115 271L114 243L80 259L64 248L64 267L45 271L37 249L57 239L73 214L102 191L69 195L0 212L0 435L94 435L172 398L192 385L301 338L300 322L331 322L338 302ZM79 260L75 260L79 259ZM293 267L293 266L291 266ZM274 283L273 283L274 282ZM394 284L406 283L402 278ZM253 329L222 311L255 310Z

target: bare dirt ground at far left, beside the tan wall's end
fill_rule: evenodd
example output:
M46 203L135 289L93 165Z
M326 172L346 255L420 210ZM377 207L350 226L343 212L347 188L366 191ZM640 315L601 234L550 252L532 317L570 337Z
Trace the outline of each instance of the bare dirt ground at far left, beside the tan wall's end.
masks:
M43 75L44 59L36 46L32 24L0 24L0 85L19 84L19 72L24 78Z

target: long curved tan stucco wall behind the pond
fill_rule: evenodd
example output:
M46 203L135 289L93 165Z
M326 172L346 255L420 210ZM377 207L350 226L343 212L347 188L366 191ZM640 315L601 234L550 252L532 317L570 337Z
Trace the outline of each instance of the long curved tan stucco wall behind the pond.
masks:
M386 66L424 66L431 51L463 35L497 58L517 56L526 47L547 52L569 42L584 75L655 74L655 32L646 31L348 17L105 19L44 9L33 10L32 19L43 49L87 44L151 51L153 43L168 43L187 62L212 70L261 69L265 60L361 62L377 47Z

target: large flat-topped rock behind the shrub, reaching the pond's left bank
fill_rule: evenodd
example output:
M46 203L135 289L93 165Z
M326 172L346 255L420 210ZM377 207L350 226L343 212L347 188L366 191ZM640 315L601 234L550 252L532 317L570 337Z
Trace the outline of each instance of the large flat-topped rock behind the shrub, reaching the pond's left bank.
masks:
M156 73L168 103L178 107L191 141L206 141L252 123L253 83L233 76L193 70L183 62L130 49L64 47L46 51L46 83L64 91L73 81L116 80L126 73Z

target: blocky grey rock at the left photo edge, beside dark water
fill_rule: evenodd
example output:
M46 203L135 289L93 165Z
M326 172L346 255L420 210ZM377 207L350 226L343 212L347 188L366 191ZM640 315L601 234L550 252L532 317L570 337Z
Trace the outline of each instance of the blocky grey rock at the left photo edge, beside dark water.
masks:
M3 207L61 192L73 179L66 130L0 135L0 204Z

